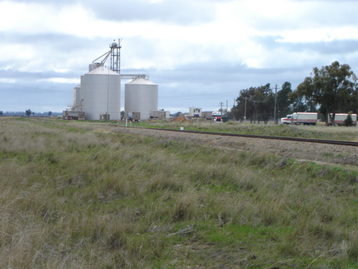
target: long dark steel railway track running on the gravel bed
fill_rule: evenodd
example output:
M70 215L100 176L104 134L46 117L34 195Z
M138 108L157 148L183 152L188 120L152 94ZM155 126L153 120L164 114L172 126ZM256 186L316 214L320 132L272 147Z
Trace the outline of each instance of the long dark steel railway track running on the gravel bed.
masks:
M124 126L120 126L120 125L114 125L114 126L124 127ZM146 127L124 127L124 128L148 129L148 130L159 130L159 131L181 132L181 133L192 133L192 134L232 136L232 137L248 137L248 138L261 138L261 139L275 139L275 140L311 142L311 143L334 144L334 145L340 145L340 146L358 147L358 142L353 142L353 141L325 140L325 139L314 139L314 138L285 137L285 136L269 136L269 135L252 135L252 134L235 134L235 133L204 132L204 131L177 130L177 129L162 129L162 128L146 128Z

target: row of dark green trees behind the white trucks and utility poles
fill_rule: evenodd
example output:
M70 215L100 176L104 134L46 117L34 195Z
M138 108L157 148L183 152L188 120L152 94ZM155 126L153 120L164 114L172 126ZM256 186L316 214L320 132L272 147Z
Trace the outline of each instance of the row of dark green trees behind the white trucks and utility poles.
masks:
M240 90L231 110L236 120L267 123L274 118L275 93L270 84ZM347 64L334 61L330 66L315 67L297 89L284 82L276 96L276 119L293 112L318 112L334 122L337 113L357 113L358 84Z

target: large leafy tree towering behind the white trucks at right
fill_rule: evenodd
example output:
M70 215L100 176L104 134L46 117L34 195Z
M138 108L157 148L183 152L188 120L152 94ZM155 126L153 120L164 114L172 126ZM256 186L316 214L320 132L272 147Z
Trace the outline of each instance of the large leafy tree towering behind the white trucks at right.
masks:
M297 87L297 96L304 97L310 111L317 105L319 111L329 116L334 125L336 113L356 108L356 76L349 65L334 61L330 66L313 69L314 75L306 77Z

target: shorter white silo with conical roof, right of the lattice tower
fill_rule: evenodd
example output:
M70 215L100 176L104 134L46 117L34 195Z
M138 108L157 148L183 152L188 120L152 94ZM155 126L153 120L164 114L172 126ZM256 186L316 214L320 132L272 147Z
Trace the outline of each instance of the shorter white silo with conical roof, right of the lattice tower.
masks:
M124 111L140 112L140 119L147 119L151 110L158 110L158 84L139 77L124 86Z

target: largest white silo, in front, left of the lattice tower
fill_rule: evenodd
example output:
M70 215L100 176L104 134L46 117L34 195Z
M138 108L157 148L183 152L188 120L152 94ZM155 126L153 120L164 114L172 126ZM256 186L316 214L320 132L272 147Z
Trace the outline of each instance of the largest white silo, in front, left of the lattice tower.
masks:
M99 120L109 114L111 120L121 118L121 75L100 66L81 76L82 111L85 119Z

